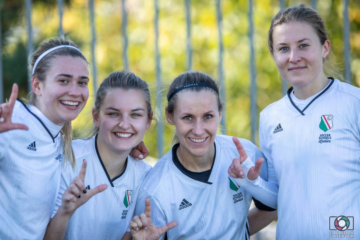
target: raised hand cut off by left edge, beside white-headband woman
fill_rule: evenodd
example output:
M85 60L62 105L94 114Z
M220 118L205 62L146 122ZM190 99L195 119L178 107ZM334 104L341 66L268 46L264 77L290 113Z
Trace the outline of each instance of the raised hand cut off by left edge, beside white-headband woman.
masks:
M13 129L29 130L29 128L23 124L11 122L11 115L13 113L15 101L18 97L18 92L19 87L14 83L9 102L0 104L0 132L6 132Z

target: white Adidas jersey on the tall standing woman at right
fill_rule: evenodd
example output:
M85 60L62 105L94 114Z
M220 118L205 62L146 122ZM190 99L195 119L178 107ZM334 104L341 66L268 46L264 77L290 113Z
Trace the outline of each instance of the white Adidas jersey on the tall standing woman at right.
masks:
M360 89L333 80L305 109L289 95L260 114L276 239L360 239Z

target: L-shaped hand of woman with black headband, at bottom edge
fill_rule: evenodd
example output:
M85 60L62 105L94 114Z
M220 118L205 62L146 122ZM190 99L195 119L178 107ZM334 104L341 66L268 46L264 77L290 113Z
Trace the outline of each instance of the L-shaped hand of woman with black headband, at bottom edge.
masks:
M177 222L169 222L162 227L157 227L151 221L150 199L145 199L145 213L135 216L130 221L130 232L134 240L158 240L165 232L177 226Z

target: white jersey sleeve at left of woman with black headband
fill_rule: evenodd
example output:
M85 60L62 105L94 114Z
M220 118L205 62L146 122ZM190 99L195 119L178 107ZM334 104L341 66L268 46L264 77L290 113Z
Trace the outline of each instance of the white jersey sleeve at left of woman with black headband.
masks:
M163 210L161 209L158 201L156 200L156 198L154 198L153 196L149 195L145 190L140 190L139 193L139 198L138 201L136 203L136 209L135 209L135 213L136 216L140 216L141 213L144 213L145 210L145 199L149 198L150 199L150 203L151 203L151 221L154 223L155 226L157 227L162 227L164 226L167 221L166 221L166 216L163 212ZM165 234L163 234L159 240L164 240L165 239Z

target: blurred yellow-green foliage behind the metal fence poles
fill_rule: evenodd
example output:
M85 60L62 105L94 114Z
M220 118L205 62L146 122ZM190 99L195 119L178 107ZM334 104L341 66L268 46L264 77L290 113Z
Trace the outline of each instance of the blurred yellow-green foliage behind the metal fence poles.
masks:
M285 0L292 6L310 0ZM88 0L64 0L63 30L91 61L91 28ZM222 0L224 81L226 87L226 129L228 135L250 139L249 113L249 38L248 1ZM349 1L351 79L360 85L360 1ZM19 97L27 97L27 21L24 0L0 0L4 96L17 82ZM325 19L330 42L340 68L343 68L343 1L318 0L317 9ZM267 49L267 31L271 18L280 10L276 0L253 0L254 46L258 111L282 98L281 81L276 65ZM156 96L154 1L127 0L127 34L129 37L129 68L147 81ZM95 0L96 68L98 85L112 71L124 67L121 30L121 0ZM192 0L192 69L218 77L219 40L215 0ZM56 37L59 15L55 0L32 1L34 49L42 40ZM186 20L184 0L159 0L159 48L162 82L186 70ZM91 77L90 77L91 81ZM90 94L93 94L90 82ZM166 94L166 85L164 86ZM155 99L155 98L154 98ZM166 104L164 99L163 105ZM74 132L91 124L89 116L93 99L73 121ZM164 109L161 109L164 111ZM258 124L258 123L256 123ZM166 123L164 153L170 148L172 129ZM153 157L157 156L156 131L149 130L144 139Z

